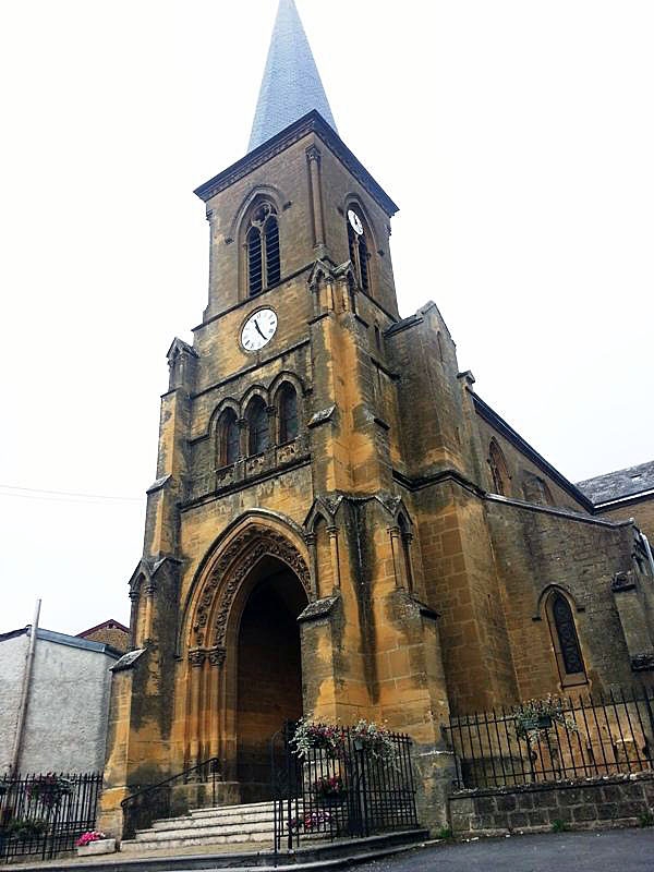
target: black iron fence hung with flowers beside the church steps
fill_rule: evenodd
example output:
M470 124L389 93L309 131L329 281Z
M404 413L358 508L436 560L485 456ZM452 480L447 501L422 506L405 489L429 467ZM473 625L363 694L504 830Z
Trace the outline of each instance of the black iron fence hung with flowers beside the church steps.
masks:
M272 738L275 851L307 839L361 838L419 826L411 739L387 734L384 753L347 727L330 747L293 743L295 724Z

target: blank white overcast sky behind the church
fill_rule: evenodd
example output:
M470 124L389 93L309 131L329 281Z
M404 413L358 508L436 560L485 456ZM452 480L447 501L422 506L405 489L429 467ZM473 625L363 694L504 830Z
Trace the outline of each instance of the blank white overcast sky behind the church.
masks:
M652 459L651 0L298 5L401 206L402 314L435 300L480 395L571 480ZM192 190L245 150L275 9L3 4L0 632L37 596L49 629L128 620L165 354L206 303Z

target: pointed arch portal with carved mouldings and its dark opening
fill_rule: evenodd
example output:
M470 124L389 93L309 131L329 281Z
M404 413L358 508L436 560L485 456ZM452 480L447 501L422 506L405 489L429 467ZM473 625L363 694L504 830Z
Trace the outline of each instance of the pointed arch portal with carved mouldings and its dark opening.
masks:
M239 526L190 602L185 756L219 756L242 802L270 798L270 738L303 712L298 617L311 579L287 533L258 520Z

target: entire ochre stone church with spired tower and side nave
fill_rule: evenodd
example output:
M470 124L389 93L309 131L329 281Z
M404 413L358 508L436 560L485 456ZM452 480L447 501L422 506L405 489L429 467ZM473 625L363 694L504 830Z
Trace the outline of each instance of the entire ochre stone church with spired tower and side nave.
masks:
M434 302L400 317L398 206L340 138L293 0L247 154L195 193L208 303L168 352L101 824L214 756L222 803L266 798L303 714L409 734L438 821L450 714L651 683L652 495L597 510L477 396Z

